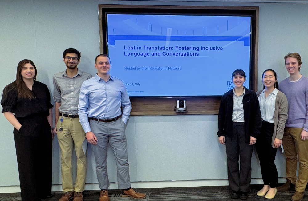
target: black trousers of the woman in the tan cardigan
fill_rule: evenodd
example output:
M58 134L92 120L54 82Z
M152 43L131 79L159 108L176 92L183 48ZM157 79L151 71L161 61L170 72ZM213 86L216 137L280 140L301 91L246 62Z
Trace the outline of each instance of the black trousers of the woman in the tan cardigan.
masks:
M261 174L264 185L277 187L278 174L275 165L277 148L272 147L274 124L262 121L261 133L256 142L257 154L260 160Z

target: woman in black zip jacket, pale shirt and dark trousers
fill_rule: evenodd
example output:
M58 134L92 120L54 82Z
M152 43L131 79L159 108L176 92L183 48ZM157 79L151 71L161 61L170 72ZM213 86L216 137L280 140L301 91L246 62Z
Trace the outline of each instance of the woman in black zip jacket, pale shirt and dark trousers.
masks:
M232 81L234 88L221 98L217 135L219 142L226 145L231 197L245 200L250 188L253 144L260 133L262 120L256 93L243 86L245 72L235 70Z

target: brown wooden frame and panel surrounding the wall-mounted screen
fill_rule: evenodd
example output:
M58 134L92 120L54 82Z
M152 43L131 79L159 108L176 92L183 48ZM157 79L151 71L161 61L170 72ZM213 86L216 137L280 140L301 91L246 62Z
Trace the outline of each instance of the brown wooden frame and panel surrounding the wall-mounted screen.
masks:
M253 13L252 23L252 58L250 89L257 91L258 83L258 39L259 39L259 7L257 6L160 6L160 5L118 5L99 4L99 40L100 53L103 54L103 17L102 9L105 8L137 8L137 9L193 9L193 10L249 10ZM186 100L188 112L175 112L176 100ZM192 114L218 114L221 97L172 97L172 98L130 98L132 103L131 116L142 115L192 115Z

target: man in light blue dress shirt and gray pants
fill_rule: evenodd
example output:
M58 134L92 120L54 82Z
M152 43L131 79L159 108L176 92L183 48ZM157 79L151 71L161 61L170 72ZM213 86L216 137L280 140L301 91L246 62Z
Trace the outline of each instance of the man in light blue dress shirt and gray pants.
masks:
M94 66L97 74L84 81L80 88L78 115L94 152L97 179L102 189L99 201L109 201L108 143L115 155L118 188L123 189L122 197L145 198L145 194L136 192L130 186L125 124L132 107L125 84L110 75L108 55L98 55Z

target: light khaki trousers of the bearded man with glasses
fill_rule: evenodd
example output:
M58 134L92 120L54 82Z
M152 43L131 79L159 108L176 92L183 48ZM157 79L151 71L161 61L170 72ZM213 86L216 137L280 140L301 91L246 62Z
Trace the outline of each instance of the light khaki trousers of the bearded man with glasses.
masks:
M79 118L63 117L62 128L61 116L57 123L58 141L61 150L61 171L62 171L62 189L63 192L73 191L82 192L86 180L87 161L86 153L83 152L82 144L86 139L86 134L79 122ZM77 156L77 176L74 189L73 174L72 174L72 150L73 141L75 144Z

